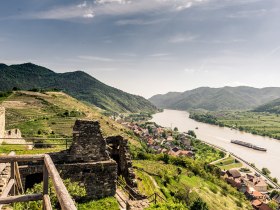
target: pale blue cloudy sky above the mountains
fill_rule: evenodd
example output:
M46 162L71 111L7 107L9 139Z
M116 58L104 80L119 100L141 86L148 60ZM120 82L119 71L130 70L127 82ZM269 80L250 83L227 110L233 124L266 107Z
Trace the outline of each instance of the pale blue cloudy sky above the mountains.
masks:
M1 1L0 63L26 62L146 98L280 86L280 1Z

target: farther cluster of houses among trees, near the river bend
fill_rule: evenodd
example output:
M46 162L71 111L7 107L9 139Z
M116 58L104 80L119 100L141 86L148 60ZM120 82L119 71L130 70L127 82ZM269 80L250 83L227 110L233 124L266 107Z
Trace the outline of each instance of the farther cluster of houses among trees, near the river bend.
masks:
M191 146L191 139L187 133L179 133L172 129L160 127L155 123L139 125L133 122L122 122L122 125L132 130L157 154L164 153L174 157L195 157L194 148Z

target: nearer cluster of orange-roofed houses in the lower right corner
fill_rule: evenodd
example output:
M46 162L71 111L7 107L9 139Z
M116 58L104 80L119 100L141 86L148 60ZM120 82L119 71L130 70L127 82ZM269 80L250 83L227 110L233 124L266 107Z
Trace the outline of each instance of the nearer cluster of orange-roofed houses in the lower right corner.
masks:
M230 169L222 172L222 176L227 183L237 188L240 192L250 200L254 209L257 210L272 210L268 206L270 198L268 196L268 184L261 177L253 174L241 174L237 169ZM273 198L278 205L280 197Z

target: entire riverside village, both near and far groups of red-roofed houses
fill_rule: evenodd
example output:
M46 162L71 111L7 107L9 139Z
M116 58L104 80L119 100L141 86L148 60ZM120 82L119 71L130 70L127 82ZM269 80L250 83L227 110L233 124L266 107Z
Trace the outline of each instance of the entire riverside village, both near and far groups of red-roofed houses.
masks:
M120 118L115 120L133 131L156 154L168 154L174 157L195 159L196 149L192 146L192 139L196 137L194 131L179 132L177 127L174 129L163 128L150 121L136 120L128 122ZM219 160L214 162L215 165L218 165ZM274 190L260 174L253 173L249 169L244 168L243 164L240 164L240 167L227 170L221 169L221 177L232 187L244 193L254 209L272 210L268 203L270 205L272 203L276 207L274 209L280 209L279 192Z

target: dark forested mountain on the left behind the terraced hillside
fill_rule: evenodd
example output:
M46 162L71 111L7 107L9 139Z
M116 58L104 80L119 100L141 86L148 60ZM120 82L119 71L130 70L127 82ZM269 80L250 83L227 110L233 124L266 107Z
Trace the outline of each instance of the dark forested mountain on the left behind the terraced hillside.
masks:
M116 112L155 111L156 107L141 96L110 87L83 71L55 73L32 63L0 64L0 91L13 87L59 89L99 108Z

